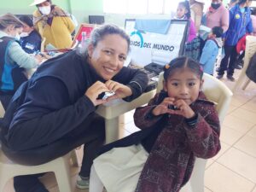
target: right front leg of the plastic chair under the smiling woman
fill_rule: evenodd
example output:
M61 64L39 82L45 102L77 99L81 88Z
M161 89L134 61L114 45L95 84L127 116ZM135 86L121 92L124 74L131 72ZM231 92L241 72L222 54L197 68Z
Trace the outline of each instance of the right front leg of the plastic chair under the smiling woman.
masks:
M72 192L69 158L62 160L60 163L62 168L55 170L59 190L60 192Z

